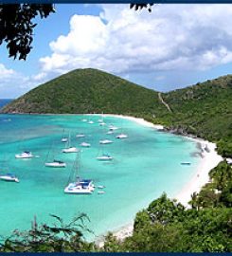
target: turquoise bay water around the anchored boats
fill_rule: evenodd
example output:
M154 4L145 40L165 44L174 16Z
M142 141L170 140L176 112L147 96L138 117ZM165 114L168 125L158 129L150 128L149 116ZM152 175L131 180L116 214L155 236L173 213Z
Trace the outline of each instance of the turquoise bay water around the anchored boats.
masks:
M82 121L91 119L93 124ZM0 115L0 174L16 174L20 183L0 181L0 234L9 235L13 229L29 229L36 215L38 223L54 223L49 214L70 221L80 212L87 213L86 223L96 236L133 221L134 215L153 199L167 192L180 192L194 174L200 161L195 142L184 137L158 132L132 120L105 117L107 125L120 127L115 135L106 135L107 125L99 126L100 116ZM62 134L71 135L74 146L85 141L90 148L82 148L80 172L91 178L96 186L105 186L91 195L64 194L72 172L76 154L63 154ZM116 139L116 134L128 134ZM85 138L76 135L84 133ZM99 145L102 138L113 144ZM16 159L15 154L31 151L40 157ZM115 158L99 162L102 151ZM45 167L45 161L59 158L67 163L65 169ZM191 162L183 166L183 161ZM88 239L96 238L87 234Z

